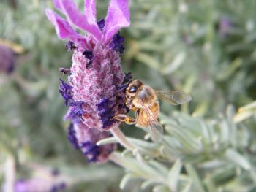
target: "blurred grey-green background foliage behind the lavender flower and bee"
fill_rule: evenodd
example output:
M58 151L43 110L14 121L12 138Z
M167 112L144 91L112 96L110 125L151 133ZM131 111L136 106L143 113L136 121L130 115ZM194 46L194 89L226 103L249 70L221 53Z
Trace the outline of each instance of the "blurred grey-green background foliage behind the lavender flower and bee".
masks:
M82 9L83 1L76 2ZM34 177L37 164L58 169L70 183L66 191L120 191L123 169L112 163L87 164L69 145L59 67L70 66L72 55L46 18L46 7L52 8L52 2L0 1L0 45L8 41L15 52L11 74L2 67L8 58L0 54L0 183L11 169L17 179ZM105 18L107 7L108 1L97 1L98 19ZM121 31L126 39L124 72L152 88L192 95L189 105L163 105L165 115L181 110L214 119L228 104L237 110L256 99L256 1L130 0L129 7L131 26ZM255 137L255 118L246 123L247 134ZM143 136L138 128L121 127L131 137ZM255 161L256 148L248 150ZM139 183L124 191L142 191Z

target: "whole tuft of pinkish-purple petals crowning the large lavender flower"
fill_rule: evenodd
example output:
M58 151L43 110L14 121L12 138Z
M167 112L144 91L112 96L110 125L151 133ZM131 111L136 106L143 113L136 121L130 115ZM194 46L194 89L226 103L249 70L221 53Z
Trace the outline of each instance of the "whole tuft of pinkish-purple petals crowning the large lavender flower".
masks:
M85 1L84 13L78 10L72 0L53 0L53 4L68 20L67 22L67 20L59 17L50 9L46 9L46 15L55 26L59 38L69 39L82 47L85 45L80 43L80 35L72 29L71 25L88 32L102 44L110 42L110 39L119 29L129 26L128 0L110 1L103 31L97 26L95 0Z

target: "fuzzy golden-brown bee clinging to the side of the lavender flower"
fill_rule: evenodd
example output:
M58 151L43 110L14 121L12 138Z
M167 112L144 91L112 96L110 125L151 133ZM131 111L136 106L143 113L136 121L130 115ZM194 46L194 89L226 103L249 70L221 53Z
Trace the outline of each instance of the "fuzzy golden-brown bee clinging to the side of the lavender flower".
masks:
M148 128L151 138L155 142L161 142L163 128L157 120L158 98L173 105L184 104L192 100L192 97L184 91L156 91L144 85L140 80L133 80L125 91L125 104L129 110L135 111L135 118L118 114L114 119L129 125L136 124Z

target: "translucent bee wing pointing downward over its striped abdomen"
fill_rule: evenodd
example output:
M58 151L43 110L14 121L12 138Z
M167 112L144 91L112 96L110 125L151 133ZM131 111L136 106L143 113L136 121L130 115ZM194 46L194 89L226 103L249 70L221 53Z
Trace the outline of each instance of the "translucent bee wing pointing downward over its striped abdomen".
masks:
M140 102L140 105L143 111L146 112L149 124L151 125L148 127L151 138L154 140L154 142L161 142L163 133L162 125L157 121L157 118L154 117L151 110L145 104Z

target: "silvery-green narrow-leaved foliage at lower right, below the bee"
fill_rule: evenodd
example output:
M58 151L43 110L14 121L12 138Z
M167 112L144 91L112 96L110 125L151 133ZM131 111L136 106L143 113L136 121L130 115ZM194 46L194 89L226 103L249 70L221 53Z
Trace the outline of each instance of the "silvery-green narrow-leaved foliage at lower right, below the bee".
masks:
M124 150L110 155L111 161L127 170L120 187L141 180L142 190L254 191L256 143L254 135L248 134L252 126L241 122L248 118L242 112L236 113L232 106L216 119L195 118L177 111L171 116L161 115L166 131L162 144L129 138L136 146L133 154ZM104 139L98 144L112 142L116 139Z

